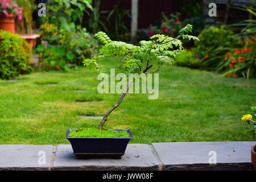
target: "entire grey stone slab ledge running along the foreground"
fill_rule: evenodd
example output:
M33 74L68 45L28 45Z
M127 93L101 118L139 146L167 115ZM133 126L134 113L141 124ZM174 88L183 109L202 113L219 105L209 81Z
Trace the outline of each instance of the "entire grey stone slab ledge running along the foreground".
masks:
M128 144L122 159L77 159L71 145L0 145L0 170L254 170L256 142ZM57 148L57 149L56 149ZM39 151L46 164L39 164ZM209 164L216 151L217 164ZM42 155L42 154L41 154Z

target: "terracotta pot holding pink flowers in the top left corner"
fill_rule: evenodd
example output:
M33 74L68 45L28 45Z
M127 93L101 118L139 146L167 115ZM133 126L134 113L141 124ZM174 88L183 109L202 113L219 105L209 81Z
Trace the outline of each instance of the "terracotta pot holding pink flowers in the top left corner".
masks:
M14 14L10 14L7 17L5 14L0 15L0 29L4 31L9 31L15 34L15 16Z

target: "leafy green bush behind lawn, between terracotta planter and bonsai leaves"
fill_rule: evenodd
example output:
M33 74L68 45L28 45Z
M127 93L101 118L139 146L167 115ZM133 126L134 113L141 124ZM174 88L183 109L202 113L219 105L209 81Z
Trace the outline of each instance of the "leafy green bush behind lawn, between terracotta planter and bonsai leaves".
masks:
M38 46L34 52L39 53L43 68L69 70L68 63L82 65L82 60L92 58L97 52L98 43L85 29L69 32L58 29L54 24L42 24L41 37L48 43L44 48ZM59 51L58 51L59 50Z

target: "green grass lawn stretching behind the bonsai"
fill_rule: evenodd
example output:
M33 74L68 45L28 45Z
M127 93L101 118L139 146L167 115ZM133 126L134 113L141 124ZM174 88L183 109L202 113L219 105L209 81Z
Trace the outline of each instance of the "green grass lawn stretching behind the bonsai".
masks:
M79 115L104 115L121 96L99 94L97 75L79 68L0 80L0 144L64 144L67 129L97 127L99 119ZM256 105L255 79L164 67L159 82L158 100L127 94L105 128L130 129L130 143L253 140L241 117Z

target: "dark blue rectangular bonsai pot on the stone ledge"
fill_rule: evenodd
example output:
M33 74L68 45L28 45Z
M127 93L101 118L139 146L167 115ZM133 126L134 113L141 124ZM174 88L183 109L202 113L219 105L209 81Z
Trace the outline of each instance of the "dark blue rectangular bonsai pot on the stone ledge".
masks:
M121 158L125 154L125 150L130 139L133 138L130 130L126 130L130 134L129 138L74 138L68 137L69 129L66 133L66 138L72 145L73 152L77 156L103 156ZM123 131L123 130L115 130Z

